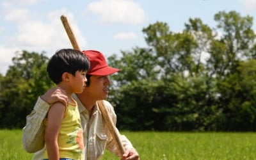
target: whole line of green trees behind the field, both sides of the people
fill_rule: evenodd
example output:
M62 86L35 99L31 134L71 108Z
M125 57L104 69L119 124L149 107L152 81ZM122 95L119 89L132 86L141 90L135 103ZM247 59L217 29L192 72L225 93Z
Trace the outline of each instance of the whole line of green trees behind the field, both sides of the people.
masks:
M256 39L253 17L218 12L214 28L189 19L179 33L156 22L143 28L148 47L108 58L108 100L120 129L131 131L255 131ZM54 84L45 52L22 51L0 74L0 127L26 124L38 95Z

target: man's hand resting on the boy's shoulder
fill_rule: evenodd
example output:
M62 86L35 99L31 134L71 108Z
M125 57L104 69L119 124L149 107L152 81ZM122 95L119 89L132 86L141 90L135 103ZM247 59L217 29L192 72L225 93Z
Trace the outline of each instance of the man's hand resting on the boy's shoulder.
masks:
M41 96L48 104L54 104L55 102L61 102L65 106L68 104L68 97L65 90L61 89L60 87L54 87L48 90L44 95Z

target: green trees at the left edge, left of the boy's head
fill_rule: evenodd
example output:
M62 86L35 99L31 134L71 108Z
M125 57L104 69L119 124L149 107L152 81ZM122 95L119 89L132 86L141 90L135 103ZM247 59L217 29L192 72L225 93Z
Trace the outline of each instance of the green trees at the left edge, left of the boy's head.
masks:
M0 126L24 127L36 99L52 86L44 52L16 52L6 76L1 78Z

